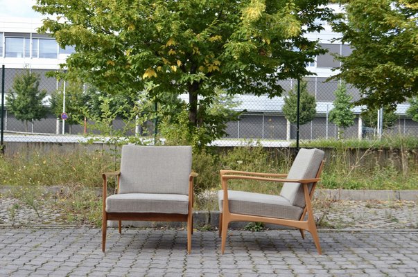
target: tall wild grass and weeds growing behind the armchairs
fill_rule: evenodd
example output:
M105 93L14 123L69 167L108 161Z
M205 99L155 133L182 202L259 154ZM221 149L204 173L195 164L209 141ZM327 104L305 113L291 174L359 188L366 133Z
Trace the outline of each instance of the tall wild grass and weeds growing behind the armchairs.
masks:
M392 139L396 141L396 139ZM399 141L399 139L397 140ZM345 142L327 150L326 166L319 188L331 189L417 189L418 139L403 139L399 149L349 148ZM329 142L331 143L331 142ZM328 144L330 145L330 144ZM304 145L305 146L305 145ZM315 145L319 146L319 145ZM328 147L322 145L322 147ZM14 197L33 208L51 204L64 211L62 220L75 224L101 225L101 172L113 171L114 157L108 152L24 152L0 157L0 184L24 188ZM288 172L293 160L286 148L266 150L247 146L220 150L209 148L193 154L195 210L216 210L220 169L253 172ZM119 161L116 162L119 164ZM44 195L41 186L61 186L61 193ZM229 189L279 194L281 185L233 180ZM8 211L10 217L16 208Z

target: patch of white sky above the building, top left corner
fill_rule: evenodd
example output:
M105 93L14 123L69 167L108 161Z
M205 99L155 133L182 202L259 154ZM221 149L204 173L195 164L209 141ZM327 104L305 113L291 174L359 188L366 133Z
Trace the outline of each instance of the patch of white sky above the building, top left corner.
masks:
M0 19L1 17L42 18L42 15L32 10L35 3L35 0L0 0Z

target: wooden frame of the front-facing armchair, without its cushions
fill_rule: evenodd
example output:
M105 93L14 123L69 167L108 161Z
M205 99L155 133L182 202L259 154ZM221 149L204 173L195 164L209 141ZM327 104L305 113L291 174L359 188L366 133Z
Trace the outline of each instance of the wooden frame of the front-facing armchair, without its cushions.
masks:
M106 247L106 231L107 220L117 220L119 233L122 233L122 220L137 220L137 221L163 221L163 222L187 222L187 253L191 253L191 235L193 234L193 178L198 176L197 173L191 172L189 175L189 207L187 215L179 213L107 213L106 198L107 198L107 179L109 177L116 177L117 189L119 193L119 179L121 177L120 171L105 172L103 177L103 222L102 222L102 251Z

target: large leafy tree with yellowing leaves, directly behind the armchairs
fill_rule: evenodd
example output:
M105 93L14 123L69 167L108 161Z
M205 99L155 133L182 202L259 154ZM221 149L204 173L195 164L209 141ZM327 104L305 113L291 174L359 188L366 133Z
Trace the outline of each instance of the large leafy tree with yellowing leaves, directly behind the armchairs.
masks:
M35 10L51 15L41 31L76 46L64 64L70 75L104 93L187 93L189 127L200 127L214 120L199 112L209 111L214 88L279 96L277 80L307 75L306 62L324 50L306 33L333 19L326 3L37 0Z

